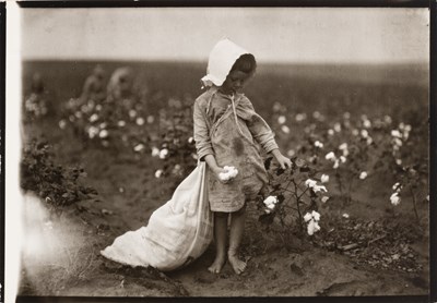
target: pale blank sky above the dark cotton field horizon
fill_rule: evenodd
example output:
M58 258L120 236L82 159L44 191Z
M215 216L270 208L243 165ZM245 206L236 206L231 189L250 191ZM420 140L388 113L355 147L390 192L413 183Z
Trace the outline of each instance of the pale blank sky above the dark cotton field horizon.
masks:
M205 61L228 37L262 62L428 62L429 12L408 8L21 9L32 59Z

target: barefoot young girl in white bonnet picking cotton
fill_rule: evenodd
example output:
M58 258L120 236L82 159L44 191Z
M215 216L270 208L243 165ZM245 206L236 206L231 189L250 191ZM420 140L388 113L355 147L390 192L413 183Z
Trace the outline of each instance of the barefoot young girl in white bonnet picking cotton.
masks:
M271 153L282 168L291 167L291 160L280 153L269 125L240 93L256 66L255 57L248 51L228 39L218 41L211 51L208 74L202 78L208 89L194 102L196 147L199 159L210 169L208 191L214 213L216 256L209 270L215 274L221 271L226 256L237 275L246 268L246 263L238 258L245 207L268 181L259 146ZM235 178L221 178L221 173L227 171L225 166L237 169Z

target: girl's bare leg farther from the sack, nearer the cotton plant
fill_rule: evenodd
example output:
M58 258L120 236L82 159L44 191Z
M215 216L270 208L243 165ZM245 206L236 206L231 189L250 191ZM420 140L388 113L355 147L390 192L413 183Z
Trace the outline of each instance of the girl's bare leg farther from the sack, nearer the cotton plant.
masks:
M238 211L232 213L229 250L227 258L234 268L234 271L239 275L246 269L246 262L238 258L238 247L241 243L243 232L245 230L246 207L244 206Z

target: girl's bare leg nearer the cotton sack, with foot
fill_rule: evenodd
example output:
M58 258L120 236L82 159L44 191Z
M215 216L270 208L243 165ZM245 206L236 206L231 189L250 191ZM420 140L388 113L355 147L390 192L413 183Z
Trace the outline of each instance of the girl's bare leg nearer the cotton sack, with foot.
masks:
M215 241L215 259L208 268L213 274L218 274L226 262L226 240L227 240L227 213L214 213L214 241Z

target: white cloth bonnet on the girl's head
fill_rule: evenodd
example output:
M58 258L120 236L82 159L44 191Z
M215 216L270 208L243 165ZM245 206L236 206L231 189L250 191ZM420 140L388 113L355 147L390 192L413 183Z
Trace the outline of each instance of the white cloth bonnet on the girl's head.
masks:
M201 78L203 85L212 86L214 84L222 86L235 61L246 53L249 52L229 39L220 40L211 50L206 75Z

